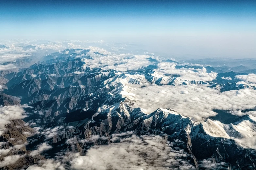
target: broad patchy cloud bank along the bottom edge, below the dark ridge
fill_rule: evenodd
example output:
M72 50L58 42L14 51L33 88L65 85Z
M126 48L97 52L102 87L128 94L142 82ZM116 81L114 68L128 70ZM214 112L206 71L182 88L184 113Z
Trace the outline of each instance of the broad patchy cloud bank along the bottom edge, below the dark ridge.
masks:
M38 165L30 165L27 170L196 169L190 162L190 154L177 147L183 145L181 141L169 142L159 135L136 136L132 132L113 134L112 137L119 138L120 142L93 146L84 156L78 152L61 152L55 160L41 160ZM73 142L69 140L66 143Z

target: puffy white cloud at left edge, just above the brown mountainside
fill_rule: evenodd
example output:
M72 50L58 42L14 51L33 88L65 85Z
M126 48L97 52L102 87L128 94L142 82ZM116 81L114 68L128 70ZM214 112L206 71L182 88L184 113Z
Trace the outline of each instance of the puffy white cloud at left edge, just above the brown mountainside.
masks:
M10 120L25 118L25 111L22 106L0 106L0 135L3 134L5 125L10 123Z

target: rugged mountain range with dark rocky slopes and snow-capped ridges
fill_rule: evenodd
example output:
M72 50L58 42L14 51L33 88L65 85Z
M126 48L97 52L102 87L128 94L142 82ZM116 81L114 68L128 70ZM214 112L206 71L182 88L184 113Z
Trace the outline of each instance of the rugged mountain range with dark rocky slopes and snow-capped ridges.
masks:
M179 168L182 161L191 165L189 169L255 169L255 149L234 140L255 134L254 116L223 116L225 119L215 117L199 122L171 108L147 113L136 107L130 93L133 85L143 88L144 84L208 85L219 93L255 89L236 83L236 73L221 73L213 81L188 81L158 74L154 71L158 63L153 59L155 65L125 72L91 68L90 63L81 60L94 59L87 54L89 51L68 49L36 63L23 59L20 63L24 65L19 68L0 72L2 112L24 110L22 120L9 119L4 127L0 126L0 168L23 169L45 159L56 160L56 156L60 159L65 153L86 155L95 145L111 146L134 135L153 135L160 136L166 145L171 143L174 151L185 153L176 158L178 163L165 164L163 169ZM233 80L227 81L223 76ZM7 159L12 161L7 163ZM206 167L206 163L212 166ZM65 168L71 168L70 164Z

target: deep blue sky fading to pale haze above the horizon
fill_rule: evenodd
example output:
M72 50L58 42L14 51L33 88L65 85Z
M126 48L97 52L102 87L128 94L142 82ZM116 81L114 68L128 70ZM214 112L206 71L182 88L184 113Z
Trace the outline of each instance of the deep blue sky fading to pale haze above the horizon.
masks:
M104 40L174 57L256 57L256 1L1 0L0 39Z

